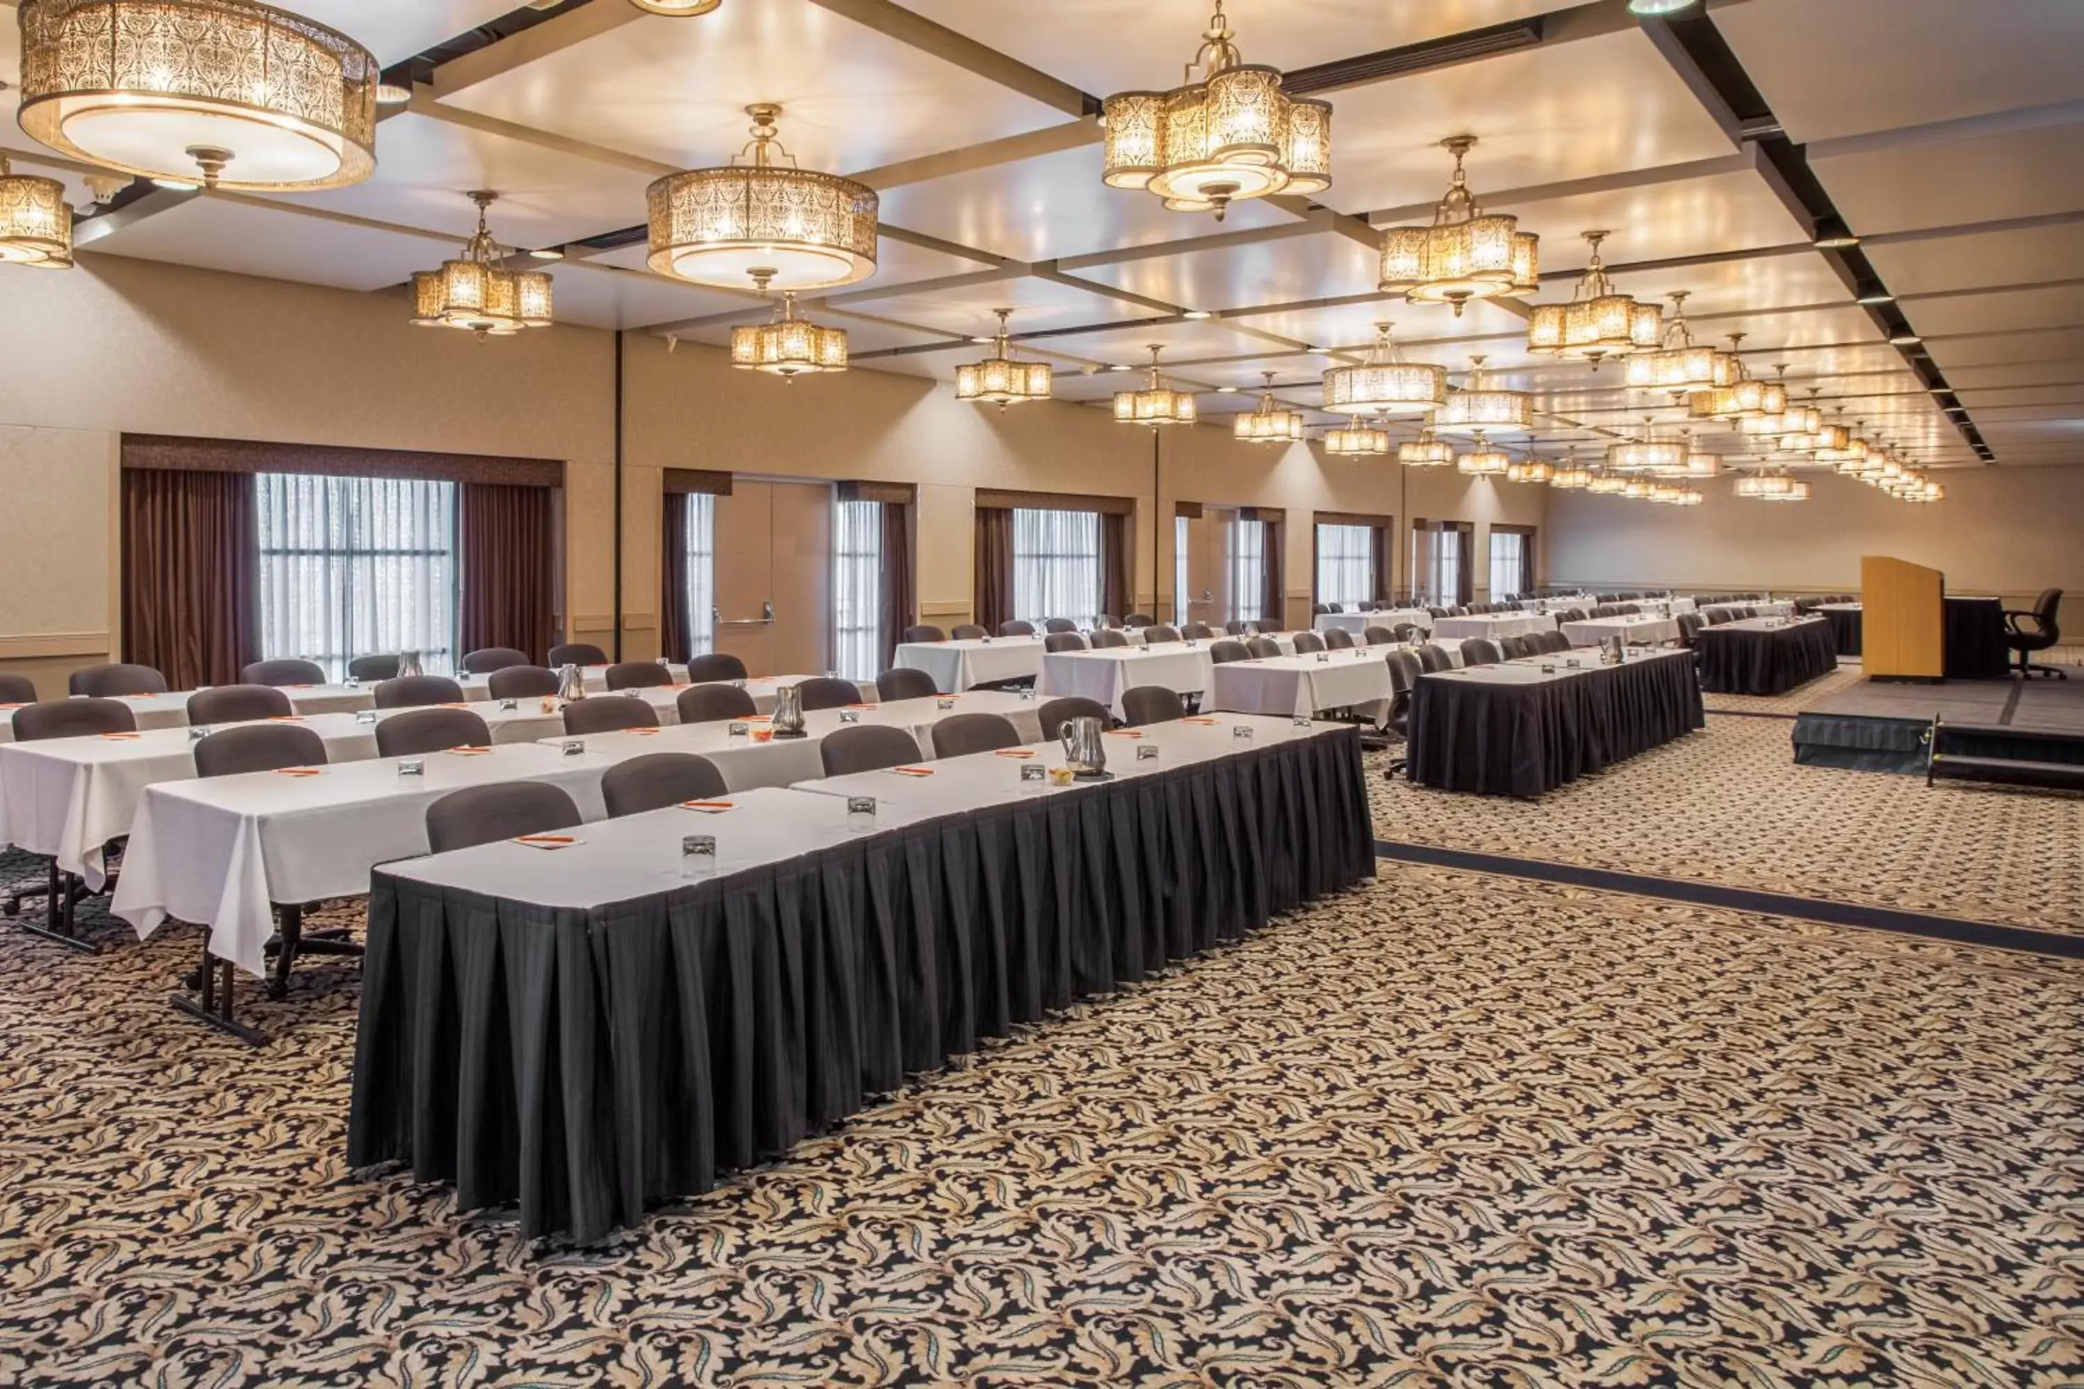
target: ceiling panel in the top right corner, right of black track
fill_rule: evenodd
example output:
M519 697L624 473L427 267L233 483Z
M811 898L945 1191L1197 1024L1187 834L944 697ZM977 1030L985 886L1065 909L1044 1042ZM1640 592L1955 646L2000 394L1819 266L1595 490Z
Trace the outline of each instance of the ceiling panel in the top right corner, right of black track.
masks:
M1715 27L1798 144L2084 98L2076 0L1746 0Z

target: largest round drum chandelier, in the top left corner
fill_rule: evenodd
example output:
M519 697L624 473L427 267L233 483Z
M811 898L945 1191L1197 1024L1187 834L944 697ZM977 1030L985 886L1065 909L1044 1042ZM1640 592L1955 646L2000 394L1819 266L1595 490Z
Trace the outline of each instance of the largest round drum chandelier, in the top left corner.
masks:
M377 60L252 0L23 0L21 127L171 183L296 192L377 167Z

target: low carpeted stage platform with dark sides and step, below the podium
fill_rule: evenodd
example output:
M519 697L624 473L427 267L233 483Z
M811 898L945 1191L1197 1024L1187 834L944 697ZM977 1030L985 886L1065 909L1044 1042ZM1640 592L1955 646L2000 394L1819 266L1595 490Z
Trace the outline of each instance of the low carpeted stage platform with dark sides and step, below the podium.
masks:
M1874 773L1926 771L1926 733L1942 718L1976 756L2084 762L2084 681L1861 681L1794 721L1794 760ZM1988 729L1986 735L1967 729ZM2042 737L2055 735L2055 737Z

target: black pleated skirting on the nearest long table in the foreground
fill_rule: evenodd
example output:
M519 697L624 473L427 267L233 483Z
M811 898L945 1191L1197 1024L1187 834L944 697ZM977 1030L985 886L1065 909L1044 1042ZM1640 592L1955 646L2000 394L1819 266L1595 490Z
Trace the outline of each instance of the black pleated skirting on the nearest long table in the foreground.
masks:
M1355 729L594 910L377 870L348 1162L600 1239L1373 873Z

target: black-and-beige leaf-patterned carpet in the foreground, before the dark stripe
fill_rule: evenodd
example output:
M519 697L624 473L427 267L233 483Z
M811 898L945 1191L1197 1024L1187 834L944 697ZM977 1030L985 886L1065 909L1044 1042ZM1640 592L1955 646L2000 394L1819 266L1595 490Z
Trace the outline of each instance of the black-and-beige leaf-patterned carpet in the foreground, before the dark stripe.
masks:
M1386 866L569 1252L192 948L0 929L0 1383L2084 1383L2071 962Z

